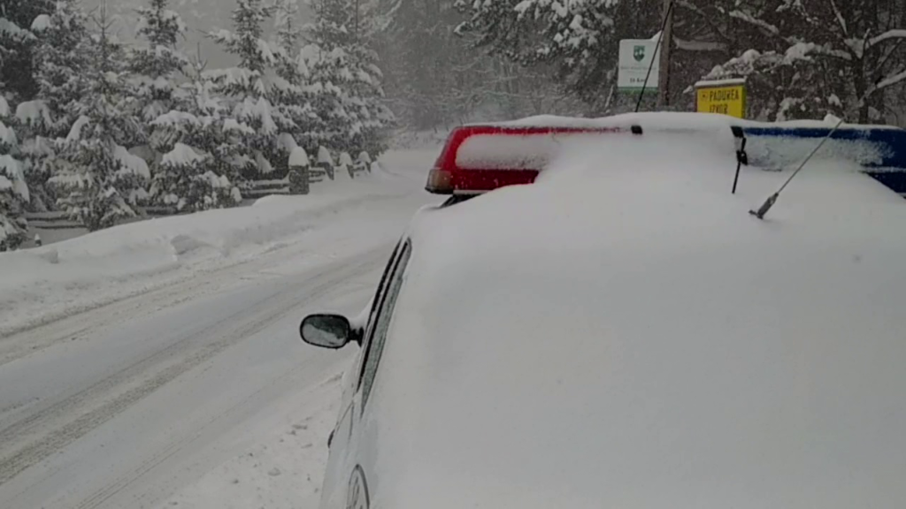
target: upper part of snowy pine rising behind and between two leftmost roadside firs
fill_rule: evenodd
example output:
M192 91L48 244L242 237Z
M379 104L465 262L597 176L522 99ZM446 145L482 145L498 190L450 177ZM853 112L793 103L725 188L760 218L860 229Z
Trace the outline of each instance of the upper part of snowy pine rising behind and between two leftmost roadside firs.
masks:
M169 0L150 0L138 14L140 43L130 53L130 71L140 120L147 125L177 106L178 79L188 65L188 58L178 49L186 25L179 14L169 10ZM149 140L151 148L157 149L154 134L150 130Z

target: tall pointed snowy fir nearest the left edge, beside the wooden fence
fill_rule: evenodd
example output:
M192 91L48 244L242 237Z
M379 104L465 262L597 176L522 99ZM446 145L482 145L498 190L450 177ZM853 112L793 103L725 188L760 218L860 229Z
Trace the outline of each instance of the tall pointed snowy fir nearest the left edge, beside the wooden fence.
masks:
M92 231L134 216L130 203L143 197L150 177L145 161L125 148L140 139L140 129L130 116L134 105L122 44L111 34L105 8L94 23L85 91L74 104L79 117L59 142L60 166L50 179L59 205Z

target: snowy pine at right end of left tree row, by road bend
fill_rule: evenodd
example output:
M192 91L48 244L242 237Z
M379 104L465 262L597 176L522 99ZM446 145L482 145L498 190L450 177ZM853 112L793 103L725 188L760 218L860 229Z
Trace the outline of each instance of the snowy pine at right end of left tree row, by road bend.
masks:
M313 44L304 50L316 96L313 106L327 122L324 142L335 152L386 149L393 115L383 100L377 55L369 45L367 16L356 0L314 5Z

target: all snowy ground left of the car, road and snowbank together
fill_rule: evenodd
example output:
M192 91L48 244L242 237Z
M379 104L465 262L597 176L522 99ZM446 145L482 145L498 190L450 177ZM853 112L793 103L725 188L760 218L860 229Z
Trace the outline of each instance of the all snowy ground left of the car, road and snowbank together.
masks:
M0 255L0 507L311 507L368 301L438 148L310 197Z

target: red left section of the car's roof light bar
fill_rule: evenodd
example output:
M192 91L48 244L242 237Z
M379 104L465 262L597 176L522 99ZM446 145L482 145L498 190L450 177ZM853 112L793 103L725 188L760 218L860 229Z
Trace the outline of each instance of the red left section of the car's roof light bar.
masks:
M477 194L531 184L556 152L557 139L571 135L637 132L637 128L468 126L450 133L428 177L439 195ZM469 147L473 145L473 147Z

